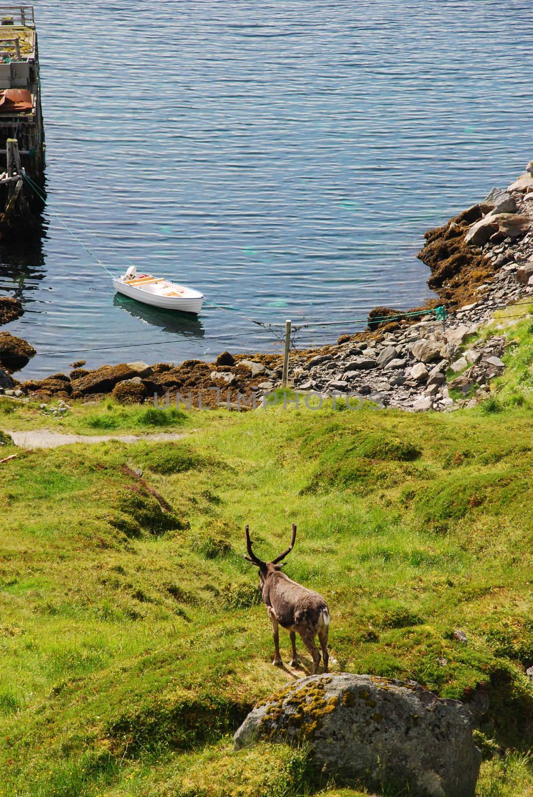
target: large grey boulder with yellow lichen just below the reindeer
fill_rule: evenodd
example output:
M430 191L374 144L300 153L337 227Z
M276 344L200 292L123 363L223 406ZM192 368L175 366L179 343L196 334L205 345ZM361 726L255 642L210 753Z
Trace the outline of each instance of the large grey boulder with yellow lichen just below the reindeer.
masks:
M414 681L370 675L313 675L256 706L233 736L308 744L319 768L394 783L410 797L473 797L480 751L472 715Z

